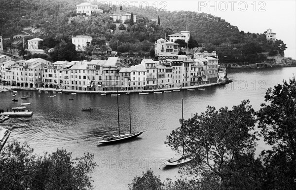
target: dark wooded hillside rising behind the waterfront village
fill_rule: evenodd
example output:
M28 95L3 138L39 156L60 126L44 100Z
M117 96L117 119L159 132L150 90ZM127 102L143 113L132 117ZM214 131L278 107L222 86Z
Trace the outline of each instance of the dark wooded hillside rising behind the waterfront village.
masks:
M195 47L198 43L203 47L202 51L216 50L221 63L263 62L267 56L284 56L284 50L287 48L282 40L269 42L264 33L252 34L239 31L238 27L210 14L152 9L142 11L136 8L133 14L137 15L137 22L133 25L126 23L127 27L118 30L118 26L113 24L109 14L126 12L117 10L113 6L104 8L103 14L75 17L75 5L83 1L71 0L69 1L71 3L67 4L66 2L48 0L40 4L33 0L4 1L0 14L0 34L2 37L12 38L22 33L23 28L30 26L39 28L40 32L26 37L25 42L34 37L42 38L44 39L42 48L45 50L58 49L63 43L71 43L71 37L75 35L92 36L94 40L91 47L87 52L78 54L76 59L99 55L103 50L110 48L113 51L136 56L152 56L153 52L149 52L153 48L154 41L164 38L165 34L170 35L185 30L186 24L189 25L192 37L189 47ZM157 19L158 16L160 25L150 20ZM109 42L109 47L106 46L106 42ZM22 44L13 41L4 43L6 50L11 47L21 50ZM49 56L48 59L56 58Z

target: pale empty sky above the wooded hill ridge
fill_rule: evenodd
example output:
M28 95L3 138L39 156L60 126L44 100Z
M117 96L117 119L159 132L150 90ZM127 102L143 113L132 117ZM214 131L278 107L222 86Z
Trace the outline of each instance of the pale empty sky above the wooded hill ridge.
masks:
M287 44L285 57L296 59L296 0L126 0L124 3L137 7L157 5L163 11L210 13L245 33L260 34L270 28L277 39Z

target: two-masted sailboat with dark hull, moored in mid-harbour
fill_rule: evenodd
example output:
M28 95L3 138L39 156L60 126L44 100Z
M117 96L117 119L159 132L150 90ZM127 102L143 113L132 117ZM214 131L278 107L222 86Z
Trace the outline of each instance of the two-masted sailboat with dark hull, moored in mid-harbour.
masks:
M117 90L117 89L116 89ZM118 90L117 90L118 94ZM127 134L120 134L120 125L119 125L119 106L118 106L118 96L117 96L117 115L118 115L118 135L112 135L108 137L104 137L103 140L99 141L99 143L104 143L104 144L112 144L112 143L119 143L125 140L129 139L134 139L141 135L143 132L136 132L132 133L132 128L131 128L131 97L129 97L129 117L130 117L130 132Z

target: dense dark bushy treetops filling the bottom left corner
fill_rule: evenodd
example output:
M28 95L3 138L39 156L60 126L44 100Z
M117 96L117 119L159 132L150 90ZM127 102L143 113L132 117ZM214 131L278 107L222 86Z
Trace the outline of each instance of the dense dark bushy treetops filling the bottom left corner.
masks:
M91 172L96 163L86 153L72 158L72 153L57 150L43 156L33 154L27 144L14 141L0 152L1 190L91 190Z

